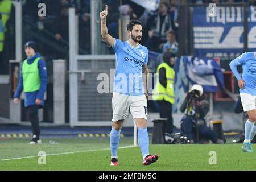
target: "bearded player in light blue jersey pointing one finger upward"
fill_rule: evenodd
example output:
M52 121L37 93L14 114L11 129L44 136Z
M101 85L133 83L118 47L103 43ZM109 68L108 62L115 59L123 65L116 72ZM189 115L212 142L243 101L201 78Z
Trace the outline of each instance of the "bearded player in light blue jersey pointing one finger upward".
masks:
M106 17L108 6L101 11L101 36L115 51L117 66L114 78L114 93L112 98L113 126L110 132L111 162L118 166L117 148L123 121L128 117L129 109L138 128L138 143L143 155L143 164L149 165L158 160L158 155L149 154L147 133L147 48L139 44L142 39L142 25L138 20L130 20L127 32L130 36L126 42L113 38L108 34ZM142 73L146 81L142 81Z

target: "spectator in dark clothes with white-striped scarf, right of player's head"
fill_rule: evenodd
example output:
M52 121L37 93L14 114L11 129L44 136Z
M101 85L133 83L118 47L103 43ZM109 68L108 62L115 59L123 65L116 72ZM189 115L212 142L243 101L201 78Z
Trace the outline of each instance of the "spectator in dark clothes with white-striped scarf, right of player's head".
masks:
M151 30L151 28L153 30L153 36L156 38L156 42L154 42L154 44L156 44L156 47L158 47L158 52L162 52L162 43L166 42L166 32L168 30L175 29L171 13L168 12L167 3L160 3L158 12L147 20L144 40L147 40L148 31Z

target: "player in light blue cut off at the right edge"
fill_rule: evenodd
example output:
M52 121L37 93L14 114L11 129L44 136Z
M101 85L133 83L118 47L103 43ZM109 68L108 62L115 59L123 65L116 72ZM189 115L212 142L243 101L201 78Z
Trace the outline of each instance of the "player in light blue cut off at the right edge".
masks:
M237 71L238 65L242 65L242 77ZM242 151L253 152L251 139L254 138L256 133L256 52L243 53L231 61L229 66L238 80L243 110L249 116L249 119L245 123L245 140Z

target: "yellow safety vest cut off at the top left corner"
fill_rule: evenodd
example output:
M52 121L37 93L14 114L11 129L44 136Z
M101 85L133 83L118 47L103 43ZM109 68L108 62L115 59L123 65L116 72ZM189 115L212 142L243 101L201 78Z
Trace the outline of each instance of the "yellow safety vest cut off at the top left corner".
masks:
M5 41L6 22L10 18L11 13L11 0L3 0L0 2L0 52L3 51L3 42Z

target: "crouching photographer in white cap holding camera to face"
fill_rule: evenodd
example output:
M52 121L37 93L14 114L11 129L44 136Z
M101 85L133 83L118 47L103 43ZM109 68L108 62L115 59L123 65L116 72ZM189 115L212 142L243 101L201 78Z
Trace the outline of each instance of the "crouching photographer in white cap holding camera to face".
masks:
M190 143L199 143L200 137L208 138L213 143L224 143L205 123L204 117L209 111L209 102L205 100L201 85L192 86L180 106L180 111L185 113L181 119L181 130Z

